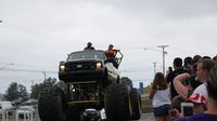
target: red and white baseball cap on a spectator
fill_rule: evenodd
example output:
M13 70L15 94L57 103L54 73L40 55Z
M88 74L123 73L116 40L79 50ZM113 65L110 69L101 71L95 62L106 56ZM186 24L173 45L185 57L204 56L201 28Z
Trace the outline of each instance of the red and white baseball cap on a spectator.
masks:
M206 98L200 93L193 93L191 96L189 96L187 102L192 102L196 104L206 104Z

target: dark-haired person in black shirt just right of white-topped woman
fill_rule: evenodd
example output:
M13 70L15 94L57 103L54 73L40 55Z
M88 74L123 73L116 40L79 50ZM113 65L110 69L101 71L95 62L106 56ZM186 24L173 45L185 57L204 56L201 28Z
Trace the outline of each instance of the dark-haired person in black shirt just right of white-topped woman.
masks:
M182 59L180 57L176 57L174 59L174 69L175 70L169 72L168 76L166 77L167 83L170 83L170 94L171 94L170 99L179 95L174 88L174 78L176 78L180 73L187 72L187 70L184 70L182 67Z

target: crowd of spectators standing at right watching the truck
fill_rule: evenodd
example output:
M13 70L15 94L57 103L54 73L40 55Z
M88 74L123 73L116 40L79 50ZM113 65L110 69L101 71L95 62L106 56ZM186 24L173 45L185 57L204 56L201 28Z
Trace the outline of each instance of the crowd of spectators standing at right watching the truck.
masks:
M159 75L150 93L156 121L217 121L217 55L176 57L166 76ZM183 104L192 104L193 113L187 116Z

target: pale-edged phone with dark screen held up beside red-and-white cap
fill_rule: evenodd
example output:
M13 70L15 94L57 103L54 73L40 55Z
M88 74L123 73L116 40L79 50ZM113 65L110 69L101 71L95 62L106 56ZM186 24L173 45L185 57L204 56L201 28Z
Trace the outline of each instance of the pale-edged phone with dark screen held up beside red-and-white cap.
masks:
M181 111L183 117L189 117L193 115L193 103L181 103Z

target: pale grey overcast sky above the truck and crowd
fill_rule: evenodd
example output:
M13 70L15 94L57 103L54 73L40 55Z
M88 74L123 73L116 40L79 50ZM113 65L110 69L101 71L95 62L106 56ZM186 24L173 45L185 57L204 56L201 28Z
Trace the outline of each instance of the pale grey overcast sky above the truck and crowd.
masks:
M166 68L177 56L217 54L216 6L216 0L0 0L0 93L13 81L29 91L42 71L58 79L60 60L88 41L120 49L120 75L145 86L153 63L162 71L157 45L168 45Z

